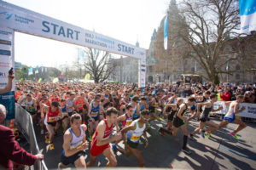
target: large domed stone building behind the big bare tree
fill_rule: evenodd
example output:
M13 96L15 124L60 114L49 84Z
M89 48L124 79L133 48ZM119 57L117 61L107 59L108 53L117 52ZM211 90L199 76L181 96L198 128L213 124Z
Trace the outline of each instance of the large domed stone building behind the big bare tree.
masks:
M167 10L168 15L168 48L164 49L164 22L166 16L160 21L160 26L151 37L151 42L147 50L147 82L176 82L181 74L205 74L201 65L195 59L188 57L191 54L186 43L178 36L178 32L183 32L183 36L188 34L187 30L177 26L177 21L185 20L178 14L177 3L171 0ZM229 37L227 37L229 38ZM256 75L254 75L256 68L256 36L241 37L239 39L230 40L230 43L224 47L221 56L233 58L239 55L237 60L229 62L230 74L220 74L220 82L256 82ZM242 46L242 47L241 47ZM242 57L241 49L245 55L252 55L250 58ZM248 68L250 65L250 70ZM225 70L226 65L222 66Z

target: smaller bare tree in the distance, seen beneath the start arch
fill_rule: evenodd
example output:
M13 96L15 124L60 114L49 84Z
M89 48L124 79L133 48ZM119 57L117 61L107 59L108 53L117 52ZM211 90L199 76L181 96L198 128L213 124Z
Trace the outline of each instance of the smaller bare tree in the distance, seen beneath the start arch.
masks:
M92 48L85 48L84 53L84 67L93 80L96 83L107 80L116 67L110 63L111 54L99 50L93 52Z

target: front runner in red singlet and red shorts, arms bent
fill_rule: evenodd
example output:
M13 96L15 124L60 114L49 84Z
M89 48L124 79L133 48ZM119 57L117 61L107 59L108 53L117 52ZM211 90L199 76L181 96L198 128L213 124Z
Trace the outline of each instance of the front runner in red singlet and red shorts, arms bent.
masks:
M106 119L99 123L93 135L90 144L90 161L87 163L87 167L92 167L96 163L96 157L100 154L108 158L107 167L117 166L116 157L113 150L110 149L109 143L121 139L122 136L121 133L116 133L111 138L109 136L113 130L113 123L117 122L118 111L111 107L108 108L106 115Z

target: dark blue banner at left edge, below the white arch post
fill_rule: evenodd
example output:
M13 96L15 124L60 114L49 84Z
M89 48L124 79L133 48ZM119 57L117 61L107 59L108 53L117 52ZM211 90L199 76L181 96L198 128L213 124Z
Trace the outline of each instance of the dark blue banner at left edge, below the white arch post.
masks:
M15 119L15 91L0 94L0 104L6 108L6 120Z

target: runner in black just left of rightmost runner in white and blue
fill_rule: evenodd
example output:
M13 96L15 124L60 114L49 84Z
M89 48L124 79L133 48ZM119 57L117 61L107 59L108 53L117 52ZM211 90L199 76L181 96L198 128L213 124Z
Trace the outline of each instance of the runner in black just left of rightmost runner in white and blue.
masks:
M210 125L210 127L211 127L207 130L207 138L210 138L210 135L211 135L210 132L212 132L213 129L218 128L218 125L215 122L210 121L209 116L210 116L211 111L213 111L213 112L214 111L220 111L220 110L223 109L223 107L219 106L217 110L213 110L213 105L218 100L218 97L217 97L216 94L211 94L210 99L211 99L211 101L196 104L197 105L197 111L200 111L200 108L202 106L205 106L205 108L204 108L204 110L203 110L203 112L201 113L201 116L200 116L199 127L196 128L195 131L193 133L190 133L190 135L189 135L189 137L193 140L196 140L194 138L194 135L195 135L195 133L198 133L198 132L201 133L202 138L205 138L205 133L203 131L203 127L205 127L206 125ZM189 122L189 120L188 120L188 122Z

